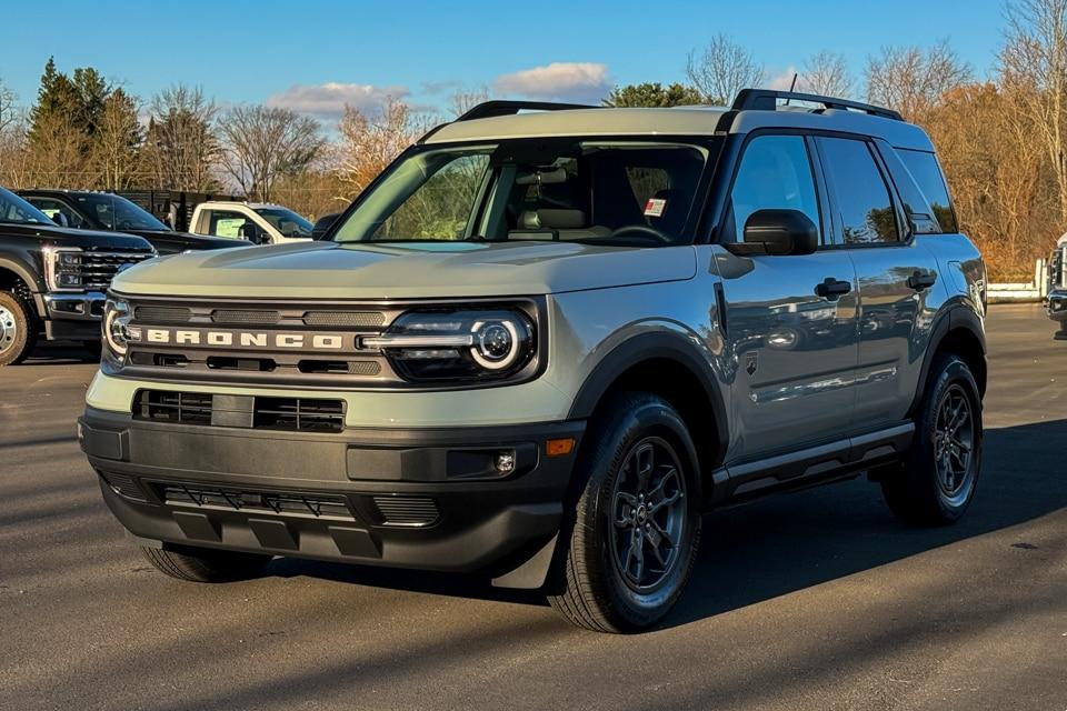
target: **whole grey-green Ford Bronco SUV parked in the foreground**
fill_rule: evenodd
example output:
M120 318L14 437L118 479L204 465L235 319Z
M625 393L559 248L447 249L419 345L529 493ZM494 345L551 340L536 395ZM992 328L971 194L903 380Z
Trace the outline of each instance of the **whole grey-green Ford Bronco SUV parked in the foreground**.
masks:
M963 515L984 312L893 111L495 101L322 241L119 277L80 439L174 578L462 571L640 630L716 507L866 472L905 521Z

